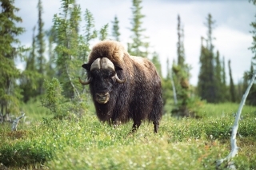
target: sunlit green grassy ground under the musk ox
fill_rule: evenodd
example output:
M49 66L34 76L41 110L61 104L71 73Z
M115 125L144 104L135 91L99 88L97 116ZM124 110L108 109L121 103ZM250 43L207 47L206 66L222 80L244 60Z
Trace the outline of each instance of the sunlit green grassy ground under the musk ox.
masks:
M130 134L131 122L113 128L93 113L58 121L26 105L29 125L21 121L17 132L1 125L0 169L216 169L215 161L230 152L237 109L238 104L206 104L199 110L202 119L164 115L158 134L147 122ZM242 116L234 164L256 169L256 107L245 106Z

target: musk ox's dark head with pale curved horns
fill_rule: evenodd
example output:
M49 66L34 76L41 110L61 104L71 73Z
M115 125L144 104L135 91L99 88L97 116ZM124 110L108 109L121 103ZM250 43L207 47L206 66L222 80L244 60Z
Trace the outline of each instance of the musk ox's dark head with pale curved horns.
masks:
M113 62L107 57L97 58L91 65L84 64L83 68L87 70L88 81L79 81L82 85L89 85L93 91L93 97L99 104L106 104L110 100L110 93L113 90L115 82L124 83L126 79L120 80L116 70L122 70L115 67Z

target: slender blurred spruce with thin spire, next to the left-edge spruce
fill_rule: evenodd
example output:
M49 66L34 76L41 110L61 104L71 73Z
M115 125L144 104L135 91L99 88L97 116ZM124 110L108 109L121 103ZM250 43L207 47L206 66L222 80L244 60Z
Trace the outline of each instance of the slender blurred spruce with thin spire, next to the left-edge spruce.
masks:
M42 2L38 0L38 33L34 35L36 27L33 29L32 45L30 53L26 56L25 65L26 68L22 71L22 77L20 78L20 87L22 88L23 101L28 102L31 98L37 98L44 93L43 81L52 77L53 73L49 71L49 63L52 61L46 61L46 41L45 30L43 29L44 23L42 21ZM51 43L49 47L51 50ZM52 60L52 56L49 56Z

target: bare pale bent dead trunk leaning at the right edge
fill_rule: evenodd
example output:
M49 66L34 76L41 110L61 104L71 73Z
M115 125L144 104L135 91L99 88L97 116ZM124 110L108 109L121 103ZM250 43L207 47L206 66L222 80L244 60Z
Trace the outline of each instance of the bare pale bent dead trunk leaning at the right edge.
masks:
M232 135L230 138L230 144L231 144L231 152L228 156L226 156L225 158L221 159L221 160L217 160L217 167L219 165L221 165L224 161L228 161L229 165L228 168L234 169L234 163L230 162L230 160L236 156L238 154L238 145L237 145L237 140L236 140L236 136L238 133L238 126L239 126L239 120L240 120L240 116L242 113L242 107L243 105L245 105L246 103L246 97L248 96L249 92L250 92L250 88L251 86L254 84L254 80L256 77L256 69L254 70L254 74L253 77L250 80L250 84L248 85L247 89L246 89L246 93L244 93L244 95L242 96L242 101L240 102L239 108L238 108L238 113L236 114L235 120L234 120L234 126L232 128ZM230 164L231 163L231 164Z

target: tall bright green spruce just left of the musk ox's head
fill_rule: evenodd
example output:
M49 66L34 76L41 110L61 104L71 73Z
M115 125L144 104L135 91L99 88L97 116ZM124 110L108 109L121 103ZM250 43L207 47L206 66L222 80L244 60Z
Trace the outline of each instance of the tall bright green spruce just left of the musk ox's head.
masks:
M79 65L77 49L78 23L81 21L81 11L74 0L62 0L61 9L60 16L54 15L58 79L62 83L64 95L68 98L74 98L79 96L78 87L75 85L78 76L75 67Z

